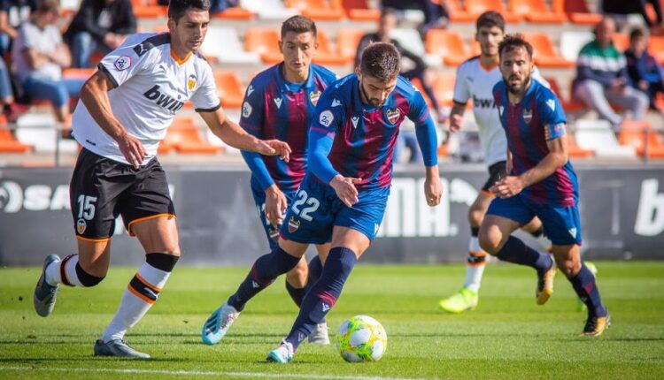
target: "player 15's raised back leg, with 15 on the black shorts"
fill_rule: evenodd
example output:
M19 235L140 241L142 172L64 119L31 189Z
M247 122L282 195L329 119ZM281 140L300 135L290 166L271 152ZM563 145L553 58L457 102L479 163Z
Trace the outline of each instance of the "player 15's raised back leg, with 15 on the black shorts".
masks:
M103 173L112 171L112 167L110 160L81 150L69 186L78 255L68 255L62 260L58 255L46 257L33 297L38 315L48 316L53 311L59 284L90 287L104 279L115 225L113 210L128 186L104 179Z

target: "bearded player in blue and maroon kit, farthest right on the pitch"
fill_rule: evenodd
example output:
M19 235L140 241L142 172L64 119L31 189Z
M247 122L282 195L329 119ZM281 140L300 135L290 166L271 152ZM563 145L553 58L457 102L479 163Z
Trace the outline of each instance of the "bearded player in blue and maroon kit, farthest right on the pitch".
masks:
M500 260L537 270L537 293L552 293L557 264L588 308L583 334L601 335L610 318L595 277L579 255L579 190L567 158L565 112L551 90L531 78L533 49L521 34L506 35L498 52L503 80L493 87L493 96L512 164L510 174L490 187L497 198L480 227L480 245ZM512 236L536 216L552 241L555 263Z

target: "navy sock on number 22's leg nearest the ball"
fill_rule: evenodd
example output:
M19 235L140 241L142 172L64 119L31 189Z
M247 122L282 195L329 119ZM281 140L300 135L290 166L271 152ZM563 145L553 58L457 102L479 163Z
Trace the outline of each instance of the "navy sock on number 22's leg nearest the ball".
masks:
M320 279L306 293L300 313L286 338L286 342L293 345L293 350L297 350L316 324L325 320L357 261L355 253L348 248L334 247L329 251Z

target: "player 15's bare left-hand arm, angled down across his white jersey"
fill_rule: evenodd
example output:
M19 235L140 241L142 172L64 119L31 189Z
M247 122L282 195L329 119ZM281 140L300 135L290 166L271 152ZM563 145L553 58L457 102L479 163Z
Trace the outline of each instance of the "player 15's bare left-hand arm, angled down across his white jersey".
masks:
M143 163L146 152L143 143L134 136L129 135L120 121L115 118L111 109L108 92L115 86L101 70L95 72L81 88L81 102L85 104L90 116L95 119L105 133L118 141L122 156L135 168Z

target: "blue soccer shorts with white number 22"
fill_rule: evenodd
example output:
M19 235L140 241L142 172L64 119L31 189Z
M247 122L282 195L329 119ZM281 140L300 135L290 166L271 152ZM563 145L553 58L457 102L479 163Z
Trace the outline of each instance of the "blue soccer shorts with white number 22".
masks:
M284 239L324 244L332 239L334 226L361 232L371 241L381 226L390 187L359 191L359 201L347 207L332 186L307 174L289 205L280 233Z

